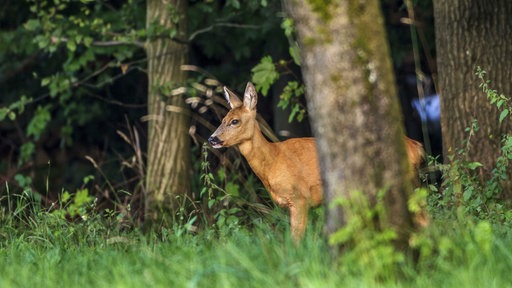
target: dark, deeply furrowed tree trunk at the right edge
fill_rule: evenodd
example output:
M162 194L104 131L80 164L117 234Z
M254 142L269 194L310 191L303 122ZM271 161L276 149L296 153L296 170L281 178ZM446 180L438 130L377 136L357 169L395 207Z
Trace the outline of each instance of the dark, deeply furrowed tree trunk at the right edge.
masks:
M482 163L482 175L489 175L501 135L512 131L512 123L499 124L499 111L479 88L475 68L488 72L493 89L512 95L512 1L434 0L434 15L445 162L477 119L480 130L468 158Z

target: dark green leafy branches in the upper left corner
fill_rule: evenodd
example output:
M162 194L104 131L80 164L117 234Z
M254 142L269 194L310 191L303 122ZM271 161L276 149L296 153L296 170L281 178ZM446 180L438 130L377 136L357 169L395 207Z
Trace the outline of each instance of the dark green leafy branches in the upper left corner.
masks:
M56 132L62 134L63 147L77 137L77 126L103 112L104 106L91 104L91 96L101 98L98 88L111 84L121 74L121 64L141 51L137 37L144 34L140 31L145 23L139 4L142 1L117 6L108 1L72 0L8 3L6 9L19 13L16 21L8 15L7 23L16 29L0 31L0 37L9 39L10 45L4 46L11 47L0 50L5 60L0 69L7 71L0 75L15 81L5 83L0 121L9 119L25 129L18 164L31 159L51 124L60 127ZM0 77L0 81L6 79Z

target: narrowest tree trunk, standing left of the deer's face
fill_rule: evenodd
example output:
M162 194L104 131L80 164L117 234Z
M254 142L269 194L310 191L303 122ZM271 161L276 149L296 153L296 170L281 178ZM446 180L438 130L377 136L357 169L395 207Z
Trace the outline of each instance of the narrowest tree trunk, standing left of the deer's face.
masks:
M186 33L185 0L148 0L147 27L159 25ZM146 43L148 56L148 158L145 213L149 221L166 219L175 212L190 190L190 138L187 106L182 95L164 95L164 85L182 85L181 65L187 59L187 46L170 38L169 31Z

